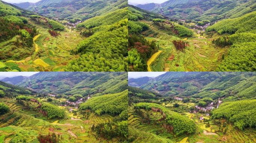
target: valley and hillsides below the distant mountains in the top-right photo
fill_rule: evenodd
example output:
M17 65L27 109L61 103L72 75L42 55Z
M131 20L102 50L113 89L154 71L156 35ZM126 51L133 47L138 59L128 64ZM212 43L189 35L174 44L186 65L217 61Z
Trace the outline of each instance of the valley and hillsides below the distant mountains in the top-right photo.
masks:
M254 10L217 20L173 19L159 13L129 5L129 71L255 71ZM246 48L248 42L251 48Z

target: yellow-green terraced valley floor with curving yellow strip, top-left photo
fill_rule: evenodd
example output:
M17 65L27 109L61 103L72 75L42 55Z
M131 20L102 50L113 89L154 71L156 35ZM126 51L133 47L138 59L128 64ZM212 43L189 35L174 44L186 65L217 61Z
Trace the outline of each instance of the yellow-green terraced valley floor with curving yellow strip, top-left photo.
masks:
M31 20L29 23L39 31L39 35L33 38L34 53L18 61L3 61L4 66L15 65L21 71L64 71L68 62L77 58L77 55L70 52L83 39L82 36L77 31L66 29L58 37L53 37L49 34L48 27Z

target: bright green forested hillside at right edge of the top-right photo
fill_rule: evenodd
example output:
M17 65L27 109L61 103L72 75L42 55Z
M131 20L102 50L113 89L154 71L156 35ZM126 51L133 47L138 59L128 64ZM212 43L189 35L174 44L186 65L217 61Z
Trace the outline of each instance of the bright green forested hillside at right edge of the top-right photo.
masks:
M226 19L208 27L206 32L222 34L213 41L218 45L231 45L219 71L255 71L256 12L234 19ZM223 34L230 34L228 36Z

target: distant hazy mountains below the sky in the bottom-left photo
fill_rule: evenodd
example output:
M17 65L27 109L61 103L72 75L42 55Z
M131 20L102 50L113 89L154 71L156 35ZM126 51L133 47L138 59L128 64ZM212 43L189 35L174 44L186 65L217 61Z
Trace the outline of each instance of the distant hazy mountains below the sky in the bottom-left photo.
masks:
M39 72L24 80L19 77L2 79L4 82L29 88L42 94L98 96L127 89L127 73L118 72ZM15 80L16 79L16 80Z

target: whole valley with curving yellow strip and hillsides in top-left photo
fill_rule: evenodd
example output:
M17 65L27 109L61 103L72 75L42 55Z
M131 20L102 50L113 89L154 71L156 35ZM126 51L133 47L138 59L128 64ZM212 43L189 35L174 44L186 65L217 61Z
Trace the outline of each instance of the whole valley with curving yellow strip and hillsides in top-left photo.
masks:
M127 70L127 1L105 1L104 4L84 2L82 5L78 0L66 2L42 0L35 9L23 7L28 9L25 10L17 7L22 7L22 3L15 6L0 1L3 28L0 71ZM60 13L53 15L42 13L46 7L51 9L51 6L61 5L60 9L65 9L71 8L72 4L79 5L76 7L79 10L89 10L91 14L78 12L78 9L77 13L65 16L60 15L62 11L59 10L56 12ZM109 42L113 40L116 44ZM114 49L118 52L114 53Z

